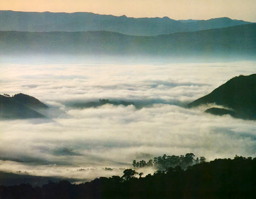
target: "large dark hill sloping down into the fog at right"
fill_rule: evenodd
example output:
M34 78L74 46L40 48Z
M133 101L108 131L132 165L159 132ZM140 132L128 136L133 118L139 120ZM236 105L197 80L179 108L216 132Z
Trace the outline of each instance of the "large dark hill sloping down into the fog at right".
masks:
M188 104L196 107L202 104L215 103L232 108L240 116L256 118L256 74L239 75L214 89L210 94Z

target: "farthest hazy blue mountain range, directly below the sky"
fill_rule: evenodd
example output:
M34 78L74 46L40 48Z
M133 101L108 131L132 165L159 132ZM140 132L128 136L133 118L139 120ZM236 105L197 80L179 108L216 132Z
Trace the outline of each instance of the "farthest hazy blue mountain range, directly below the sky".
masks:
M130 18L125 15L100 15L91 12L20 12L0 11L0 31L78 32L111 31L128 35L159 35L198 31L248 24L243 20L173 20L168 17Z

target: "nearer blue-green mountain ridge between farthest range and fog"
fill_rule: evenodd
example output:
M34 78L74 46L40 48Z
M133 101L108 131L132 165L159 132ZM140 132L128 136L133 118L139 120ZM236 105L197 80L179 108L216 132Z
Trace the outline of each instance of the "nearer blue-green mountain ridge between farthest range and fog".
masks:
M256 55L256 24L158 36L115 32L0 32L0 52L136 56Z

